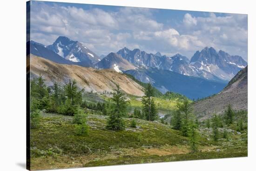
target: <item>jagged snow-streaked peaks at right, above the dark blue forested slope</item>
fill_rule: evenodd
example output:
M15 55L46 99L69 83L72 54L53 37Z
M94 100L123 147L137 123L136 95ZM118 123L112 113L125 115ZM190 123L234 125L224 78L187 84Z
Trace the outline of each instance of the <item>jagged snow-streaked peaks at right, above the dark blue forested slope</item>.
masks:
M229 55L222 50L216 52L213 47L205 47L201 52L195 52L190 60L181 54L167 57L160 56L161 53L146 53L140 49L129 50L127 47L117 53L136 66L153 67L216 81L229 81L247 66L242 57Z

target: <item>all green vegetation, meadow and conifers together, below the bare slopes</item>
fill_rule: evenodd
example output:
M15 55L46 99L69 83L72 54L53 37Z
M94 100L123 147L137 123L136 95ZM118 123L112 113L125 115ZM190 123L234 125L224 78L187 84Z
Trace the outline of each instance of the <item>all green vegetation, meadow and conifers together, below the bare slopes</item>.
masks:
M144 87L141 98L119 85L99 95L75 80L32 80L32 169L247 156L247 112L228 105L223 115L199 121L191 100L171 92L156 97L152 85Z

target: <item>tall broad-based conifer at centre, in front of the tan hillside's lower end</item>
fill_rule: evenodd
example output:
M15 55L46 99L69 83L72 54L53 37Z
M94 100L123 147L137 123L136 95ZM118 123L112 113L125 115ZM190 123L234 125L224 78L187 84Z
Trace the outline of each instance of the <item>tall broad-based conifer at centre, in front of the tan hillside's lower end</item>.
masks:
M125 124L122 116L127 114L129 102L126 100L125 93L121 91L120 85L116 85L116 89L114 89L111 100L114 104L110 111L106 128L114 131L123 130L125 128Z

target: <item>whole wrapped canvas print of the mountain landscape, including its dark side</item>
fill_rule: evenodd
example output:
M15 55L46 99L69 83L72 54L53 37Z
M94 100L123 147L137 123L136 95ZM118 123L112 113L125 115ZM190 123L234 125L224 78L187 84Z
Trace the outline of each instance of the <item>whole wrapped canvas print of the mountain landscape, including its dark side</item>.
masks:
M27 2L27 169L247 157L247 15Z

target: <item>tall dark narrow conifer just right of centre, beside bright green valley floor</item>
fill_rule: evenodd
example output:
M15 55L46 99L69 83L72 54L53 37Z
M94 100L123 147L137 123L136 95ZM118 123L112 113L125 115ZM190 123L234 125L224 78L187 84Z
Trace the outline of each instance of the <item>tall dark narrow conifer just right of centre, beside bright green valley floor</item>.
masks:
M149 121L154 121L157 118L157 110L153 97L154 87L148 83L145 96L142 97L142 112Z

